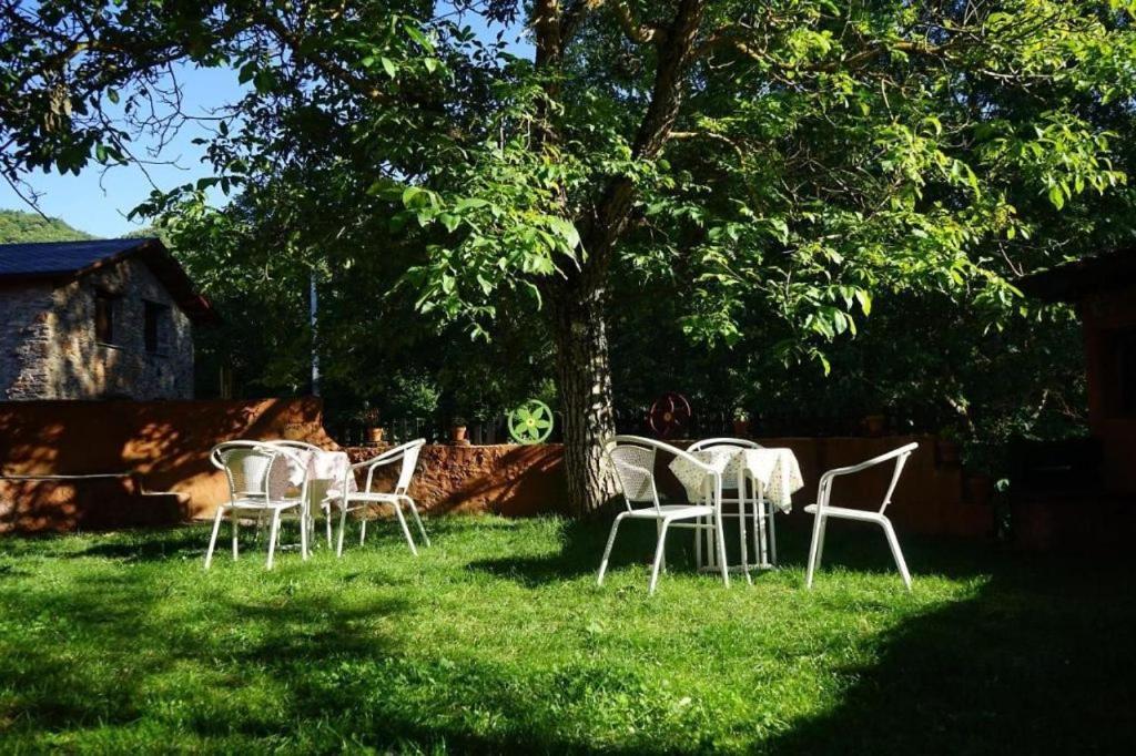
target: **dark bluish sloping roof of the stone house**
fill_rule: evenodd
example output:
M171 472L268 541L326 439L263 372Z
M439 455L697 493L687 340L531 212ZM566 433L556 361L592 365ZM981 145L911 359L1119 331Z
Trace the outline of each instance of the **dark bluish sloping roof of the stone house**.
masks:
M217 311L199 294L181 263L157 238L0 244L0 282L70 279L140 258L169 291L177 305L198 322L216 322Z

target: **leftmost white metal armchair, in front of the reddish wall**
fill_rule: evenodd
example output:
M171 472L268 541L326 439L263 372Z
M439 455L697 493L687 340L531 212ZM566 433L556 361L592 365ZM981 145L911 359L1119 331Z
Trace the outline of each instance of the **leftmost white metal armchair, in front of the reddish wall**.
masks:
M225 472L229 499L217 507L212 536L206 552L206 569L212 563L222 520L233 524L233 558L237 557L237 528L242 513L272 515L268 536L268 569L273 569L281 520L295 513L300 520L300 553L308 558L308 468L287 448L260 442L236 440L218 444L209 455L214 467ZM289 496L289 492L296 492Z

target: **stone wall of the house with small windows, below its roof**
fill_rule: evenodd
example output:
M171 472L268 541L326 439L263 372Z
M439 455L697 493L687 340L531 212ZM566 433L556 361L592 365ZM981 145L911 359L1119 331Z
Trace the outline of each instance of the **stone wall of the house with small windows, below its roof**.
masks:
M114 338L95 338L95 293L117 295ZM145 302L164 305L164 348L145 348ZM127 259L52 288L32 282L2 291L0 390L7 400L190 398L190 319L142 261Z

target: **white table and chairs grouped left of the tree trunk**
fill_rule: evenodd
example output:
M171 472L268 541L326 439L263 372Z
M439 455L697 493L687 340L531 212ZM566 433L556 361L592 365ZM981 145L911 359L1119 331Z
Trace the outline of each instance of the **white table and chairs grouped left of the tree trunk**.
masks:
M316 511L321 511L324 515L328 548L332 546L332 520L337 512L340 531L335 553L342 556L348 514L376 504L391 505L410 552L417 555L418 547L402 509L406 506L410 510L423 543L429 546L429 536L426 535L418 506L408 494L418 467L419 452L425 444L426 440L419 438L356 464L351 464L345 452L328 452L304 442L232 440L218 444L209 459L225 473L229 499L217 507L214 516L212 536L206 552L206 569L212 563L217 537L226 516L232 527L234 560L237 558L240 520L254 518L258 534L264 520L269 520L267 565L272 569L279 546L282 521L300 523L300 554L307 560L315 541ZM395 463L400 468L394 489L375 490L375 471ZM366 470L366 482L362 490L359 490L356 472L362 470ZM359 526L360 545L366 538L367 520L362 519Z

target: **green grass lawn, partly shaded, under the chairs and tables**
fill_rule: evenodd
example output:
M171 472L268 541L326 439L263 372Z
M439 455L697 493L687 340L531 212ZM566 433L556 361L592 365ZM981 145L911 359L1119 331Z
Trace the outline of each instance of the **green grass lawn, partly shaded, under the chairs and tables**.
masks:
M908 594L834 523L811 593L783 532L729 589L676 538L649 598L653 526L598 588L603 522L427 524L273 572L251 532L203 572L203 527L0 540L0 750L1136 749L1127 566L907 538Z

